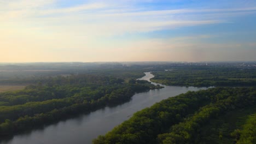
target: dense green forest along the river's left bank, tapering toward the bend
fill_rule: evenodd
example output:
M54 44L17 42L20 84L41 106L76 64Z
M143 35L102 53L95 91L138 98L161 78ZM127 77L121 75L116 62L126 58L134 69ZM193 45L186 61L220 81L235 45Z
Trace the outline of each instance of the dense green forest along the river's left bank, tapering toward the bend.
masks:
M79 113L129 101L135 92L161 88L148 81L100 75L49 77L44 83L0 93L0 137Z

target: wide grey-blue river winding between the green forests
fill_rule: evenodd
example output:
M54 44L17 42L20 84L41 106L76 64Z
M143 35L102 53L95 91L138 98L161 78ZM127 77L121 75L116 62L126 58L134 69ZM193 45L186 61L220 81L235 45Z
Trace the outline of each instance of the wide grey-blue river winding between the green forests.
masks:
M150 81L153 74L139 80ZM159 83L154 83L154 85ZM161 85L161 84L159 84ZM98 135L104 135L115 126L129 119L133 113L178 94L188 91L198 91L197 87L164 86L162 89L153 89L148 92L136 93L127 103L115 107L105 107L86 115L82 115L56 124L45 126L43 129L32 130L31 133L15 135L12 139L0 144L67 144L91 143Z

